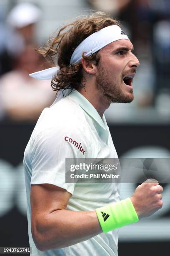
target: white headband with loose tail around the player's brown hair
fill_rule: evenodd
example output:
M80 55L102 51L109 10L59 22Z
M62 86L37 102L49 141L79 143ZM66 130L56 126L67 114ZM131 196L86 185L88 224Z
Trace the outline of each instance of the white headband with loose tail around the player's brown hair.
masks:
M117 25L108 26L102 28L100 31L97 31L83 40L77 48L74 50L70 63L79 62L82 58L82 53L85 52L85 56L90 56L96 51L99 51L107 44L110 44L114 41L120 39L129 40L128 36L125 34L122 29ZM56 72L59 70L59 67L52 67L50 69L44 69L35 73L30 74L30 77L34 77L40 80L50 80L52 79Z

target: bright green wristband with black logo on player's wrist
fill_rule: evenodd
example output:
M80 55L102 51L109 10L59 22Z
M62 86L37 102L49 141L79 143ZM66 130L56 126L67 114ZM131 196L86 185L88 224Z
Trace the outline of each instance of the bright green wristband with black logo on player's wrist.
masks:
M112 205L97 208L95 211L102 231L105 233L139 220L129 197Z

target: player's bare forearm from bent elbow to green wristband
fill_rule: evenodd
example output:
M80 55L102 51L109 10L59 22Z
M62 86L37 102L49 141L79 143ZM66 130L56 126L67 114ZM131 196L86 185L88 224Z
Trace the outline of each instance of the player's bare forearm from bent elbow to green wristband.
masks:
M36 226L32 221L32 237L42 251L80 243L100 233L95 211L55 210L41 218Z

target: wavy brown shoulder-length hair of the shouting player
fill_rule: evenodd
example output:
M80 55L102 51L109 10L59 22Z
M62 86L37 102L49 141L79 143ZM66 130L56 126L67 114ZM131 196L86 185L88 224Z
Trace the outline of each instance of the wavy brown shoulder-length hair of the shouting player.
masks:
M47 41L47 46L37 49L53 65L60 67L51 81L53 90L59 91L65 88L77 90L79 87L84 87L85 78L82 75L82 64L81 62L70 64L72 53L85 38L111 25L120 26L120 22L103 12L97 11L62 26L57 36ZM84 59L94 61L97 65L100 59L98 52L90 56L84 54L82 53Z

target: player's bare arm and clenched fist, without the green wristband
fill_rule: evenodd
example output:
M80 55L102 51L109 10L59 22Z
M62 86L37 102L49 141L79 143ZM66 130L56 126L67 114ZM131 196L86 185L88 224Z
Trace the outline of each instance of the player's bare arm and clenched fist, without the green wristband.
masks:
M162 207L162 191L158 182L148 180L136 188L131 201L139 218ZM95 211L66 210L70 197L51 184L32 185L32 238L39 250L67 247L102 233Z

